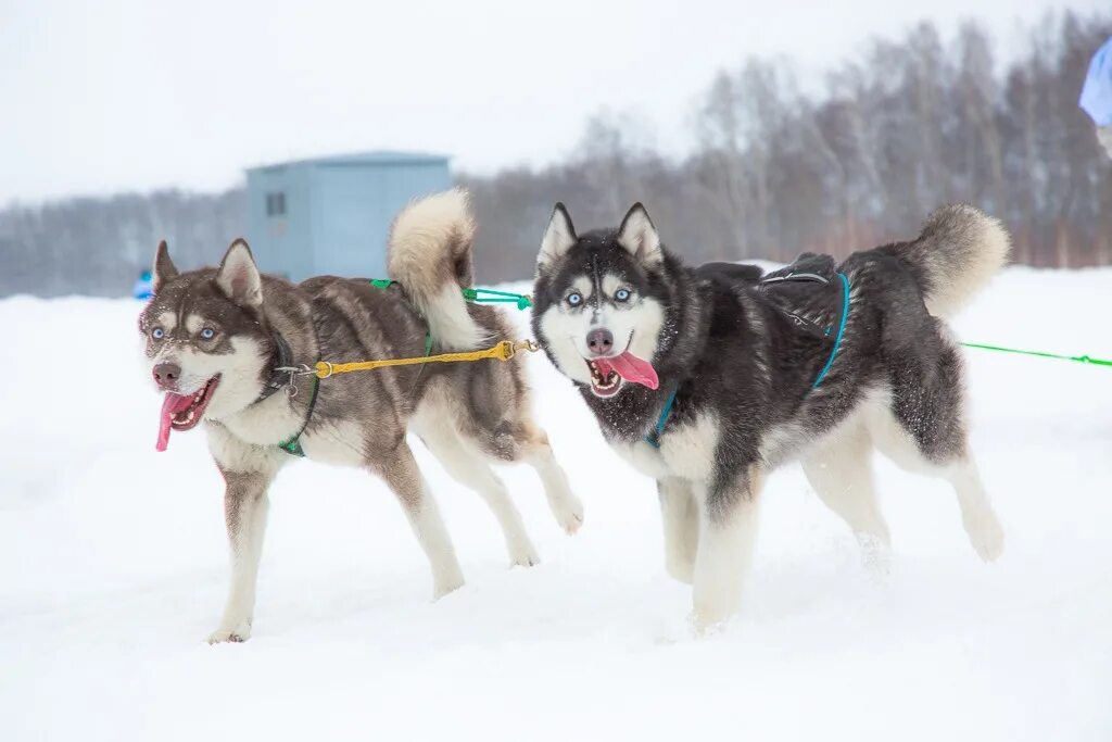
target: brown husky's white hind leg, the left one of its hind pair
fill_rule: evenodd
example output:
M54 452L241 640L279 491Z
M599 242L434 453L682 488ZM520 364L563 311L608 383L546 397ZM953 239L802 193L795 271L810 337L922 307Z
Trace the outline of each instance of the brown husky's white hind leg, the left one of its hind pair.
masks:
M522 522L522 514L514 506L506 485L483 461L483 455L468 451L459 436L445 426L428 426L420 432L421 439L437 457L448 474L459 484L474 489L502 526L509 560L515 565L533 566L540 563L537 550Z

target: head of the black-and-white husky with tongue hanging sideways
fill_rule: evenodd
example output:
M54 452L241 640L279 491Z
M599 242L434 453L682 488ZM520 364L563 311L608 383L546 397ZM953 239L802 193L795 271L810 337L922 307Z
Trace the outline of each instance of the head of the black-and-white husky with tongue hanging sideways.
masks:
M653 363L665 324L665 263L641 204L617 229L582 237L556 205L537 256L533 329L565 376L600 398L627 383L658 386Z

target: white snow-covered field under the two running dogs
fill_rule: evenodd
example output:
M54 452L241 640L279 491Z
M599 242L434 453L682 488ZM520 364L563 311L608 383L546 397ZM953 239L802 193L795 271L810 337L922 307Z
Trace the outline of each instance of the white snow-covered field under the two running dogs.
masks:
M1110 296L1112 270L1010 269L956 327L1112 357ZM578 535L532 471L504 468L543 560L507 568L479 497L421 449L468 580L431 603L386 488L300 462L271 491L254 637L208 646L221 479L199 431L155 453L138 311L0 301L4 742L1112 739L1112 368L967 352L1000 563L976 558L943 483L878 462L895 561L877 578L793 465L765 491L742 615L694 639L653 483L538 355Z

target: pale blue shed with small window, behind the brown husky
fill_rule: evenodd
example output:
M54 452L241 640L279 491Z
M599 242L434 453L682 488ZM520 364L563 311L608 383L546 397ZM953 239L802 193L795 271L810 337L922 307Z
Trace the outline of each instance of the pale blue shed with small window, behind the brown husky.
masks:
M264 271L290 280L381 277L397 212L450 187L443 155L376 151L250 168L247 239Z

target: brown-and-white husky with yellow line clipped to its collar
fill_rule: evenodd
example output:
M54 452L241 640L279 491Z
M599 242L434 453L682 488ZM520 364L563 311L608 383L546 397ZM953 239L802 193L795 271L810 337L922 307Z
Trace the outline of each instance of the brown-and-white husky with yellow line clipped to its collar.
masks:
M430 364L344 374L318 382L282 367L317 360L423 356L508 339L492 307L465 303L475 227L467 195L453 190L407 207L389 238L389 275L317 277L292 285L260 275L236 240L219 268L179 274L166 243L155 258L150 304L139 330L166 393L158 449L171 431L203 423L224 474L231 584L210 642L250 635L268 508L267 488L290 453L359 466L397 495L433 568L439 597L464 584L456 554L406 432L416 432L460 484L476 491L502 526L510 562L538 562L522 516L486 459L525 462L540 475L559 525L575 533L583 507L545 433L529 416L518 360ZM431 338L431 348L426 347Z

